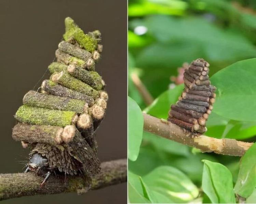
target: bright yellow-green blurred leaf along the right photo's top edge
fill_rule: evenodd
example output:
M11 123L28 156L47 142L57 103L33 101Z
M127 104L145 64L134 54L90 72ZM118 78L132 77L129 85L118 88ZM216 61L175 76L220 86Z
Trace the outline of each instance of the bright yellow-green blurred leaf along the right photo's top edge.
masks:
M128 16L145 16L150 14L182 15L187 3L179 0L144 0L130 3Z

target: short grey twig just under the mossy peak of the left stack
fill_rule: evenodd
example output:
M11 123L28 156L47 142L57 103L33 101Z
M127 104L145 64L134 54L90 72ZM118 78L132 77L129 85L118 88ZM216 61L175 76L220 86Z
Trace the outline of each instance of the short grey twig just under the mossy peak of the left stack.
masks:
M68 43L66 41L61 41L58 47L62 52L68 53L81 60L87 61L89 60L89 58L91 58L90 52L81 49L78 46L72 45L71 43Z

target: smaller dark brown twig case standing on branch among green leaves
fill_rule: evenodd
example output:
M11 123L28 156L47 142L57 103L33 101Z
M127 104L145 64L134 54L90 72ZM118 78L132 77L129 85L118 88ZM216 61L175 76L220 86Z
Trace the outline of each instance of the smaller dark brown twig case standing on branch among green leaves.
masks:
M185 88L176 104L172 104L168 121L191 132L204 133L205 124L213 109L216 87L209 80L210 64L199 58L186 67Z

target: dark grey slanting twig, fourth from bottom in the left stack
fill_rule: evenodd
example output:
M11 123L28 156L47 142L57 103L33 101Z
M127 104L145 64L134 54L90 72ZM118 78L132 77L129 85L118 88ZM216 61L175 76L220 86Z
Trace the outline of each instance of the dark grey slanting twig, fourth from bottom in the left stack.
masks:
M52 94L54 96L61 96L61 97L67 97L67 98L71 98L71 99L84 100L86 103L88 103L89 107L94 104L93 97L87 96L78 91L74 91L65 86L61 86L60 84L57 84L50 80L44 80L41 88L42 88L42 90L44 90L47 93Z

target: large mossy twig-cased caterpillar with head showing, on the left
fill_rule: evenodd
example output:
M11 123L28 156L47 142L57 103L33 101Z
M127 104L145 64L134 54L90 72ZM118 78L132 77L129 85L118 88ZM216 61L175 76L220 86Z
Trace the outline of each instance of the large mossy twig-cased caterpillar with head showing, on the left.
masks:
M105 116L108 94L95 64L103 46L100 31L85 34L65 19L66 32L48 66L41 91L30 90L15 114L15 140L31 147L25 172L91 177L100 171L95 131Z

